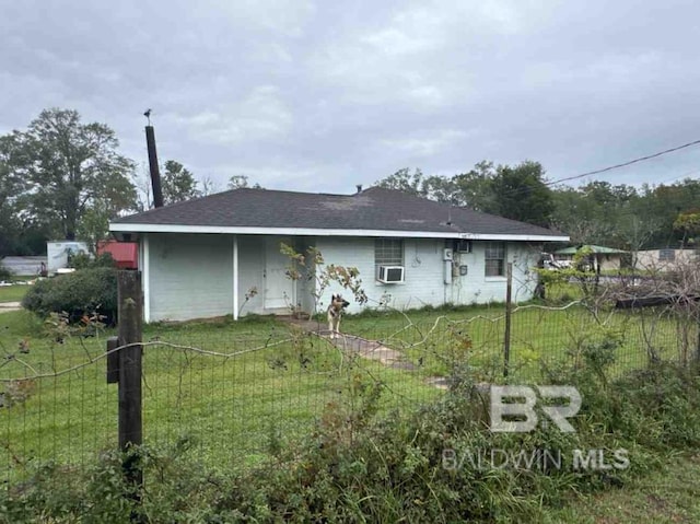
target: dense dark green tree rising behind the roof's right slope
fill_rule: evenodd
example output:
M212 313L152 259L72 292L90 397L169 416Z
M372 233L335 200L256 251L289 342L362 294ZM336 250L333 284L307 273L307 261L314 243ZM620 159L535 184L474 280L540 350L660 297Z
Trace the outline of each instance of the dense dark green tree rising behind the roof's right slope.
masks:
M491 188L493 209L488 211L542 228L551 223L555 203L539 162L525 161L514 167L499 165Z

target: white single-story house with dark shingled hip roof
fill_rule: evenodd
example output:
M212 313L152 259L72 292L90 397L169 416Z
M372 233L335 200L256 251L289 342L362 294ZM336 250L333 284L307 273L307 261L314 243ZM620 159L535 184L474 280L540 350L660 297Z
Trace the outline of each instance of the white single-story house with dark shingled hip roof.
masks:
M562 233L372 187L354 195L242 188L119 218L122 242L138 242L144 319L323 311L332 293L288 277L285 243L310 246L326 265L355 267L369 296L350 312L502 302L513 264L513 300L533 296L546 242ZM316 295L316 298L315 298Z

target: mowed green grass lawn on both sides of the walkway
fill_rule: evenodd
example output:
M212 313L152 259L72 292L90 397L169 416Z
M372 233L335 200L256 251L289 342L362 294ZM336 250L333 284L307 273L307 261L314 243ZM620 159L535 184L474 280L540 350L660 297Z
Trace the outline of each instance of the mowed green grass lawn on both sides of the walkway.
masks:
M684 337L670 318L606 315L605 329L623 340L617 373L643 366L646 345L664 358L678 356ZM448 375L455 362L468 362L478 380L503 380L502 305L348 316L341 328L400 350L415 369L359 358L270 318L147 326L145 442L186 438L212 465L248 464L270 442L307 434L327 406L357 403L352 392L363 383L384 384L383 409L412 409L441 394L425 381ZM605 340L605 329L581 307L520 308L512 323L512 380L541 380L544 368ZM47 459L82 464L116 444L118 389L106 384L100 358L110 335L107 329L59 343L28 312L0 315L3 401L13 404L0 409L0 470ZM30 352L19 352L21 346Z

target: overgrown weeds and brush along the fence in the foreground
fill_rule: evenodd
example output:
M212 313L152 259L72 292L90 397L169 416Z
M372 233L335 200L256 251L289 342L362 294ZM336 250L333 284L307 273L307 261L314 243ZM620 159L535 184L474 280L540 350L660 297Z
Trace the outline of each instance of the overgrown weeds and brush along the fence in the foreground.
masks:
M11 522L540 522L576 494L625 487L700 445L697 370L660 364L612 380L615 346L590 347L578 365L544 377L579 388L575 433L553 424L490 432L463 369L447 394L410 416L383 414L382 384L357 375L305 439L271 432L269 458L253 468L206 468L191 455L196 442L180 439L138 451L140 504L125 497L121 457L106 453L83 470L37 467L2 492L0 508ZM477 457L489 450L511 452L510 462ZM576 468L575 450L600 451L608 463ZM629 467L609 465L619 450Z

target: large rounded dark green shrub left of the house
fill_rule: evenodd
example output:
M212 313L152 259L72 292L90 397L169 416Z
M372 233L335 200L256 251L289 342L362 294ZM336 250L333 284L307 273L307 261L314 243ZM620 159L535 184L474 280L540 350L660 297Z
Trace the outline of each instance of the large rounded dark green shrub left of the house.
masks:
M107 323L117 318L117 272L112 268L81 269L37 282L22 301L40 316L66 312L71 322L98 313Z

